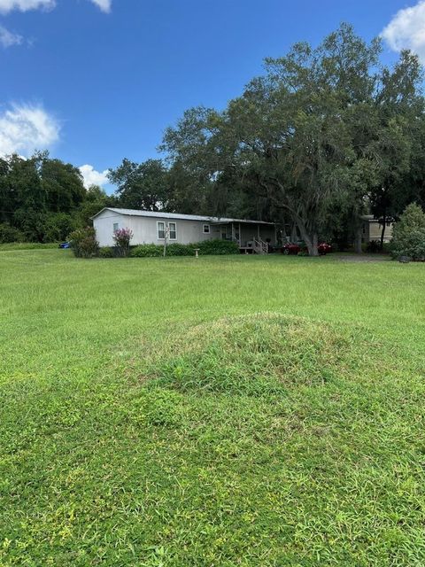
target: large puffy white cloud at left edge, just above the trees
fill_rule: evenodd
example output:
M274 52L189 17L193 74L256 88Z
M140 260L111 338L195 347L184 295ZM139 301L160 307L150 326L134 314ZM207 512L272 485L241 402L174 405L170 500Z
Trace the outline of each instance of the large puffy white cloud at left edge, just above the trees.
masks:
M58 142L58 120L42 106L11 105L0 112L0 155L19 153L30 155Z

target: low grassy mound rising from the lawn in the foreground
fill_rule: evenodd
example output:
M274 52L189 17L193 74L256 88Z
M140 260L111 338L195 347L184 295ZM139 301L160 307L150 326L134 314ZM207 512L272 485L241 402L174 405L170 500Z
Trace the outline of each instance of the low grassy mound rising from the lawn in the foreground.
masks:
M352 332L282 315L233 317L171 342L153 373L181 391L271 394L339 380L352 368ZM163 353L161 353L163 358Z

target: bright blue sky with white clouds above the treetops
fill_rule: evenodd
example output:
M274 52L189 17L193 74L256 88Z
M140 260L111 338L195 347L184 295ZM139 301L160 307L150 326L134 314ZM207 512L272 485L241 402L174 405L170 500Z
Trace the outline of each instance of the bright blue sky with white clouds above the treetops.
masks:
M341 21L386 28L385 58L425 57L423 0L0 0L0 153L47 147L104 183L156 157L185 109L223 107L264 57Z

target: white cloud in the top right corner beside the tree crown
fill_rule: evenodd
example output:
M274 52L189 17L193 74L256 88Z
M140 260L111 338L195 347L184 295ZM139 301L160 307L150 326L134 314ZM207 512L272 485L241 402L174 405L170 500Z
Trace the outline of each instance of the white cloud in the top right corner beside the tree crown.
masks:
M381 35L391 50L409 49L425 61L425 0L398 11Z

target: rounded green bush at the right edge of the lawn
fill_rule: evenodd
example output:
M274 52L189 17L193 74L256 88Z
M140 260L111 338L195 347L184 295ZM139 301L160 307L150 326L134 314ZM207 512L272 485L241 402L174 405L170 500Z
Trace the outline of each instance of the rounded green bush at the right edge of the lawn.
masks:
M390 252L393 258L425 260L425 214L415 203L406 207L394 225Z

